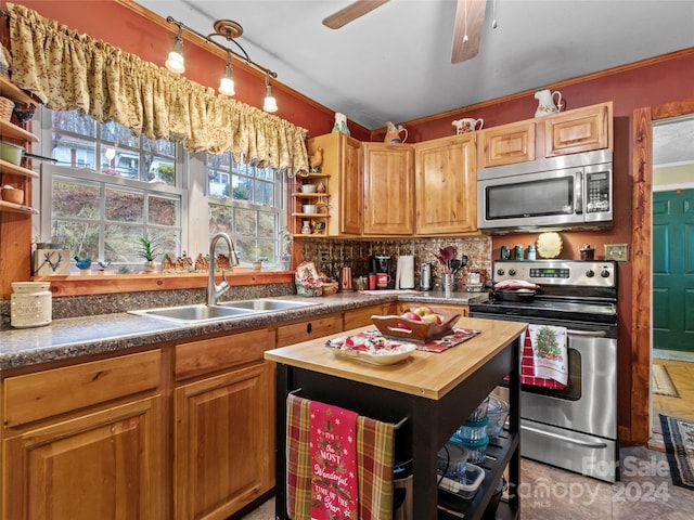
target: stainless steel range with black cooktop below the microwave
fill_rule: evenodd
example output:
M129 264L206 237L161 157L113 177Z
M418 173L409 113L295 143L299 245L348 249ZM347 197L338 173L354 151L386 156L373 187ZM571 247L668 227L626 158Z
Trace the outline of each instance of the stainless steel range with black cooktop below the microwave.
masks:
M471 316L566 328L566 386L542 386L522 377L526 384L520 392L520 454L601 480L618 480L616 263L497 261L492 280L494 287L502 283L512 288L471 304ZM539 287L532 294L524 289L528 284Z

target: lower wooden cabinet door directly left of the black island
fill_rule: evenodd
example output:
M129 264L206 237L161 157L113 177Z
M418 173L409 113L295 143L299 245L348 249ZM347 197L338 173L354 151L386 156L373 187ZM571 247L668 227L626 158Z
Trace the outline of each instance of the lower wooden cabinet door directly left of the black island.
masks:
M274 485L272 363L177 388L175 425L177 520L226 519Z

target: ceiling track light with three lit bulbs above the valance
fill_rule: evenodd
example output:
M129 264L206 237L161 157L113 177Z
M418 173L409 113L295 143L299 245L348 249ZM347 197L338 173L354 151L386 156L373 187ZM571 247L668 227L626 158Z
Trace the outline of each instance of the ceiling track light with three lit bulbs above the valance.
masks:
M272 95L272 86L270 84L270 77L277 78L278 75L277 73L273 73L269 68L258 65L253 60L250 60L250 57L248 56L248 53L235 40L235 38L239 38L243 34L243 27L239 23L232 20L218 20L214 24L215 32L211 32L205 36L192 29L191 27L188 27L182 22L178 22L174 20L171 16L168 16L166 21L169 24L174 24L178 26L178 35L174 40L174 49L169 53L169 57L166 61L166 68L168 68L169 70L176 74L182 74L185 70L185 65L183 61L183 36L182 36L182 31L183 29L185 29L187 31L197 36L198 38L205 40L207 43L210 43L227 53L227 65L224 67L224 75L221 77L219 81L218 90L220 94L223 94L223 95L235 94L234 80L232 78L232 63L231 63L231 60L233 56L239 60L242 60L246 64L250 65L253 68L260 70L261 73L265 74L265 94L266 95L265 95L262 109L266 112L278 110L278 102L274 99L274 95ZM216 42L215 40L211 39L215 36L221 36L227 41L230 41L231 43L233 43L239 48L241 53L234 52L231 49Z

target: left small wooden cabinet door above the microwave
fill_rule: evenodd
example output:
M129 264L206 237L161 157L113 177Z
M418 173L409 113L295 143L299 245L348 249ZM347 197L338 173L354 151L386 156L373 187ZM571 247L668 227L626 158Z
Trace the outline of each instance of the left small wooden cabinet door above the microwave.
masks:
M478 168L535 160L534 119L483 130L478 139Z

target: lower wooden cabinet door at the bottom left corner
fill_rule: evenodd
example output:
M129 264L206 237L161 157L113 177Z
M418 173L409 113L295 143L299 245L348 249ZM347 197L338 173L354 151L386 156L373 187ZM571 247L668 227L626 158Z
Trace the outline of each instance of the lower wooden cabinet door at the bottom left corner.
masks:
M166 520L166 438L153 396L3 441L4 520Z

